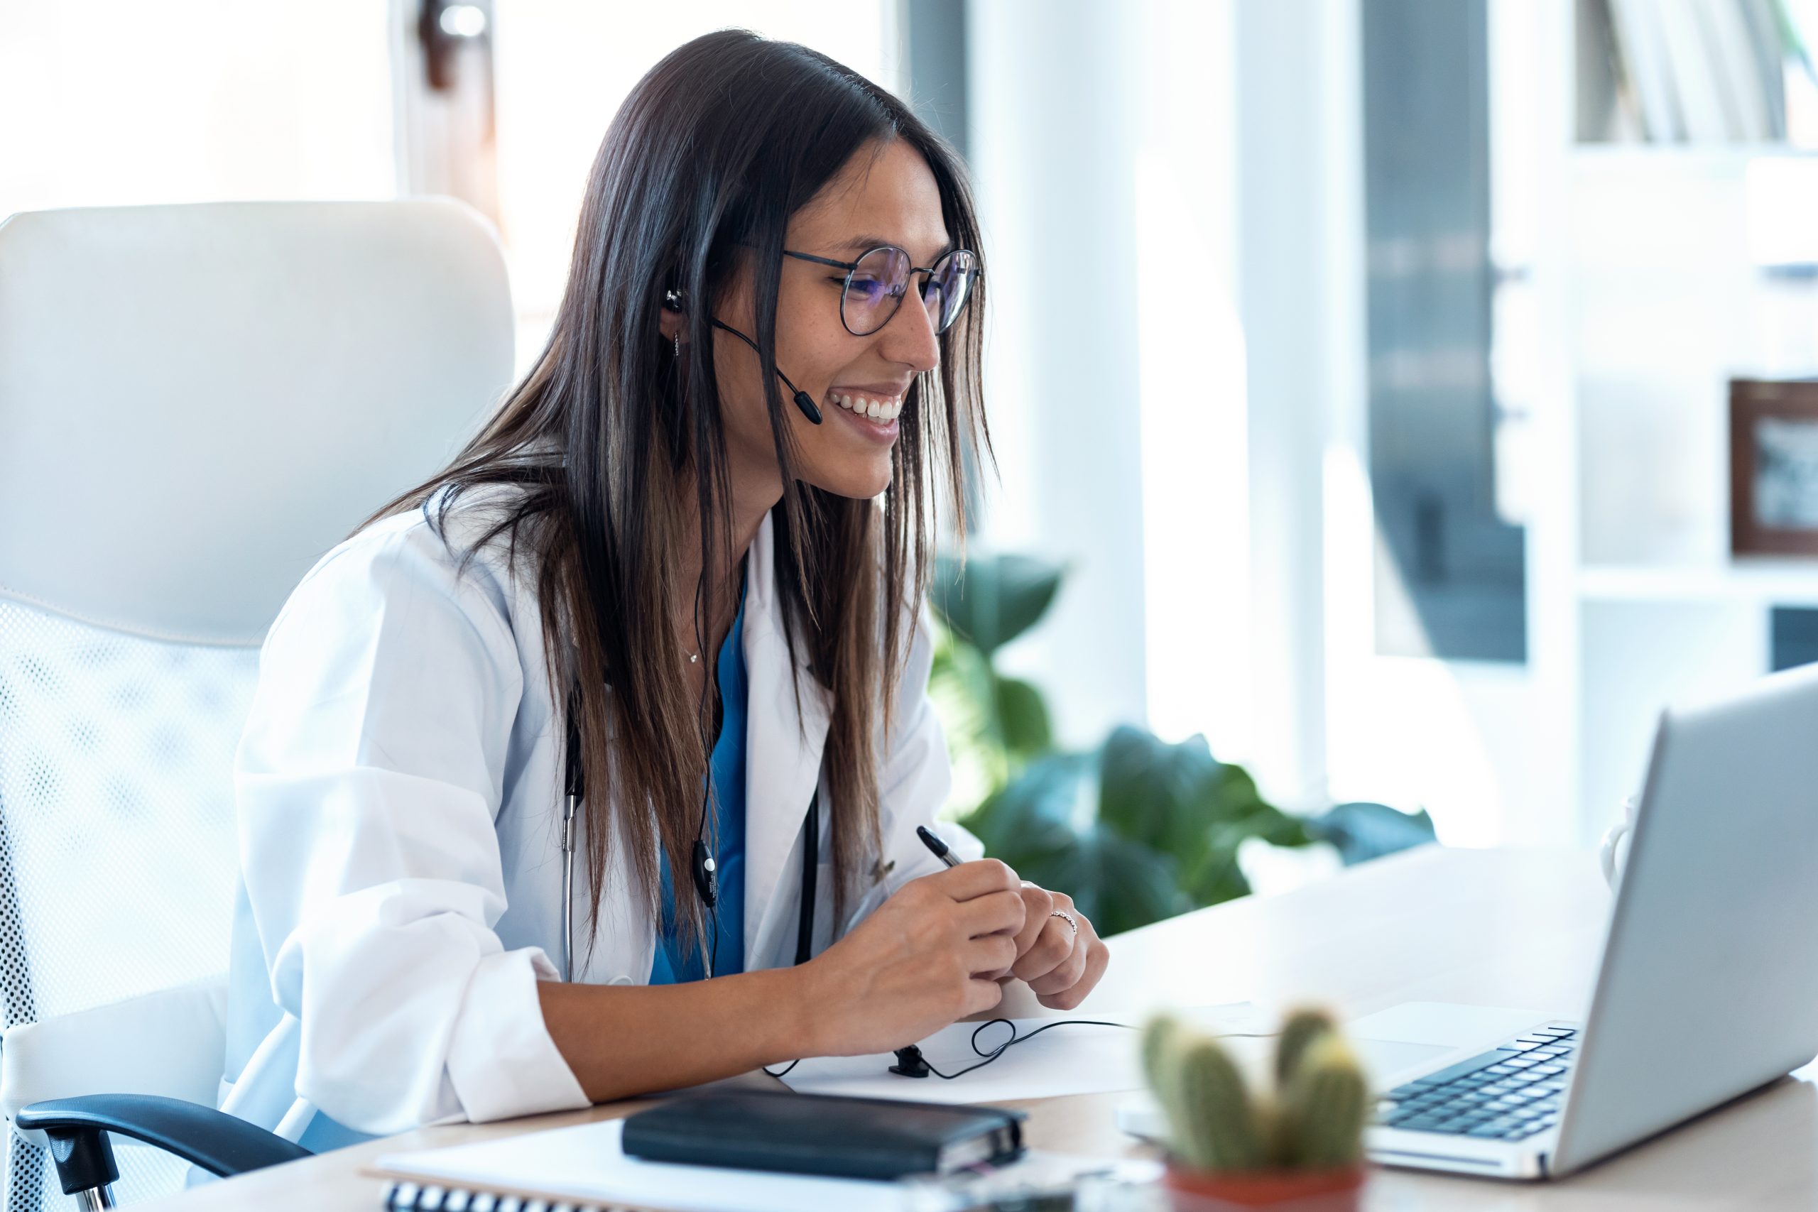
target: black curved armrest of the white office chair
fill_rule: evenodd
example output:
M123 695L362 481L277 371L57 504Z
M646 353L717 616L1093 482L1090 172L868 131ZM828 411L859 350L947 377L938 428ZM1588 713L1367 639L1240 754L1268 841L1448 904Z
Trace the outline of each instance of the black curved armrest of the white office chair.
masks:
M107 1187L120 1177L107 1132L156 1145L209 1174L231 1177L309 1150L236 1116L156 1094L82 1094L20 1107L13 1123L51 1137L64 1194Z

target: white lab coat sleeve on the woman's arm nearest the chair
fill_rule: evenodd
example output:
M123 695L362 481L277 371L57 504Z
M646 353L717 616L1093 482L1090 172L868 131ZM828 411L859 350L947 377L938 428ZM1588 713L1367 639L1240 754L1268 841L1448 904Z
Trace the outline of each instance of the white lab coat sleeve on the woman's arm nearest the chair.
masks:
M427 527L331 552L265 638L235 756L296 1094L360 1132L587 1105L536 996L554 965L493 929L524 669L476 576Z

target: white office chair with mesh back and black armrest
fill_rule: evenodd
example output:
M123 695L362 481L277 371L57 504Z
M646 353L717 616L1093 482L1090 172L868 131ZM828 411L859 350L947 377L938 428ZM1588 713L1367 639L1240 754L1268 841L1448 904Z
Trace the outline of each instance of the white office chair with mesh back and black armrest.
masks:
M5 1212L107 1207L109 1134L125 1197L307 1156L215 1110L258 649L511 374L453 198L0 222Z

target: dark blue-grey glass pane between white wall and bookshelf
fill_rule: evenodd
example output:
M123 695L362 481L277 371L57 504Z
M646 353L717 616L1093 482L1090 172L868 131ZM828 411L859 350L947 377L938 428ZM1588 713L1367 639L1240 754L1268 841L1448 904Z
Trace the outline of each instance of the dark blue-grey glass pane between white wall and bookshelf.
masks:
M1525 532L1496 512L1485 0L1362 15L1376 651L1525 661Z

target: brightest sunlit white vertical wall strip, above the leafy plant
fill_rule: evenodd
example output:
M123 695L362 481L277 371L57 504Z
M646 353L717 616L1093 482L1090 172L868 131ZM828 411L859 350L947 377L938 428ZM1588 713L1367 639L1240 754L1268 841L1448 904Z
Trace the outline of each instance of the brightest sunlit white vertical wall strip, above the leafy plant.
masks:
M1231 0L1133 5L1149 725L1256 747Z

